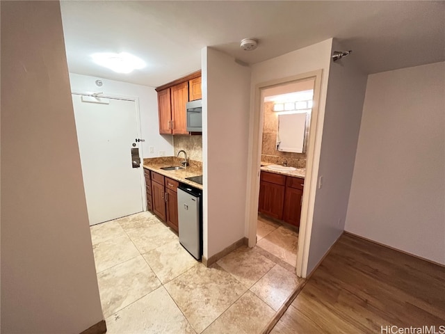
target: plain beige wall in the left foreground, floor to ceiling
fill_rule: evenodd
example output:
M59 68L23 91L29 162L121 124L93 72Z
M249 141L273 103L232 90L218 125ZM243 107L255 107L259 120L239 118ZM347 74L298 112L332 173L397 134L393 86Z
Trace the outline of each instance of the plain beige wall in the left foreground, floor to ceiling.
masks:
M58 1L1 1L1 331L104 319Z

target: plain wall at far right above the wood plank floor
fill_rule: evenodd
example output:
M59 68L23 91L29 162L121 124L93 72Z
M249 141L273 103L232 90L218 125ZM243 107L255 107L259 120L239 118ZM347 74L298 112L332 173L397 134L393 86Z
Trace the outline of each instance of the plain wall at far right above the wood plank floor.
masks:
M445 264L445 63L371 74L346 231Z

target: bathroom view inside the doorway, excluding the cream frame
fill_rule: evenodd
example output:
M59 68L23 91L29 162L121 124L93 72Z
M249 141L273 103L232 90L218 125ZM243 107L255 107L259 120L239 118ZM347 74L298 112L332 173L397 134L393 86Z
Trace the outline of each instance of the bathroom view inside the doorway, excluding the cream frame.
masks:
M261 91L263 127L257 246L293 268L315 79Z

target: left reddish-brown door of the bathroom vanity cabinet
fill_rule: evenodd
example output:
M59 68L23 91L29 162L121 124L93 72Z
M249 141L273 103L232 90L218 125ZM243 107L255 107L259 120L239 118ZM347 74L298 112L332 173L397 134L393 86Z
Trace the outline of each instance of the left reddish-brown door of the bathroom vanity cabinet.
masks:
M267 216L282 219L284 204L284 186L261 181L259 184L258 211Z

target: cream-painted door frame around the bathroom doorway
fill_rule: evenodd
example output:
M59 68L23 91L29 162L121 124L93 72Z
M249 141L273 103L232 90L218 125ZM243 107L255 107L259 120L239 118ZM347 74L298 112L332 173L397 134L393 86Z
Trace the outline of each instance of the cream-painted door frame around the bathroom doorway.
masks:
M314 82L314 104L312 106L311 124L309 126L309 138L307 140L306 152L306 175L305 190L303 191L302 209L300 218L300 231L298 233L298 250L296 274L298 277L306 278L307 261L309 258L309 244L312 232L312 220L314 216L314 204L316 193L316 173L314 157L316 147L316 132L318 130L318 109L320 106L321 80L323 70L315 70L298 74L291 77L275 79L257 84L254 88L254 110L253 126L250 135L249 157L248 157L248 209L246 210L247 234L249 247L257 244L257 216L258 216L258 196L259 177L261 165L261 143L263 134L264 103L262 101L263 90L285 84L292 84L297 81L315 79ZM316 164L318 168L318 164Z

